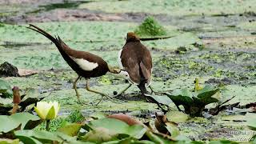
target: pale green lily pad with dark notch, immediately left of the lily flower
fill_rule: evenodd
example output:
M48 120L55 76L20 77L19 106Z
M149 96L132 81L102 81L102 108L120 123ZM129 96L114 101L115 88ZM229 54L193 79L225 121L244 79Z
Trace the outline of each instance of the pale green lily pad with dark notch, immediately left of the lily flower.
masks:
M15 122L22 123L21 129L33 129L35 126L38 126L41 122L41 118L34 114L30 113L16 113L10 115L10 118L13 119Z

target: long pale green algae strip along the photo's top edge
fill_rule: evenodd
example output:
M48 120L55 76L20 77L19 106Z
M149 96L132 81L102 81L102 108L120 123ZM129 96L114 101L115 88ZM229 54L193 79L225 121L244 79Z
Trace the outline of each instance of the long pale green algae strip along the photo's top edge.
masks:
M139 4L138 4L139 3ZM251 5L254 0L130 0L130 1L99 1L85 3L80 9L101 10L108 13L149 13L170 15L200 15L200 14L241 14L254 11Z

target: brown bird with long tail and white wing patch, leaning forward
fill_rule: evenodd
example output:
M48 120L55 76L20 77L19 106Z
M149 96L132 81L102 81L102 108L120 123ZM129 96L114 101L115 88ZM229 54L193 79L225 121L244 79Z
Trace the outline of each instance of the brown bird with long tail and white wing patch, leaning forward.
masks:
M66 43L62 42L61 38L54 38L50 34L46 33L46 31L40 29L38 26L31 25L28 27L31 30L34 30L46 38L49 38L51 42L54 42L55 46L57 46L58 51L62 54L62 57L65 59L67 64L78 74L78 78L75 79L73 83L73 88L75 90L76 96L78 97L78 102L80 102L77 90L77 82L79 78L86 78L86 90L90 92L94 92L96 94L101 94L102 98L106 96L101 92L96 90L91 90L89 87L89 78L95 78L106 74L107 72L113 74L119 74L122 70L109 66L102 58L97 55L90 54L89 52L73 50Z

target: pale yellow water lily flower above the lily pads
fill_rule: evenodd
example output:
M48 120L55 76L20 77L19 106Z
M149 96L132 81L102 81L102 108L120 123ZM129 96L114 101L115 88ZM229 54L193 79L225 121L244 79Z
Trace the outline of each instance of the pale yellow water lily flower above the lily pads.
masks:
M37 106L34 107L34 110L40 118L50 120L57 117L59 108L60 104L56 101L38 102Z

